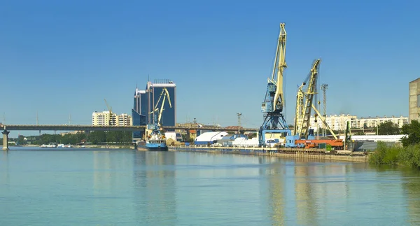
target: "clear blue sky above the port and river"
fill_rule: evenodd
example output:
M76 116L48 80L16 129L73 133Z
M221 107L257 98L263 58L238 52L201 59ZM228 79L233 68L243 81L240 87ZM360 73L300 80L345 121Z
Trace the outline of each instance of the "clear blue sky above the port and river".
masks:
M286 23L286 118L321 57L328 114L407 115L420 76L416 1L1 1L6 124L90 124L130 113L150 75L177 85L178 122L262 123L279 23Z

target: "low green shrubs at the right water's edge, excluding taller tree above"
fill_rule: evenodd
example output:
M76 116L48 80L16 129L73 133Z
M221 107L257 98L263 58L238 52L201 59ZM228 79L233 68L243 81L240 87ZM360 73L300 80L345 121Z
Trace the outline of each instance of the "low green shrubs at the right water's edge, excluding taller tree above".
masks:
M420 143L407 147L387 146L378 142L377 150L369 157L371 164L402 165L420 169Z

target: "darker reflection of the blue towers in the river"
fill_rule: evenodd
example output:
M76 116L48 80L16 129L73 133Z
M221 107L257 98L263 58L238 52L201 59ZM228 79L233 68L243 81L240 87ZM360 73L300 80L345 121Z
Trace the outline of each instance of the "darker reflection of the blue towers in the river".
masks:
M176 225L175 162L172 152L134 153L137 223Z

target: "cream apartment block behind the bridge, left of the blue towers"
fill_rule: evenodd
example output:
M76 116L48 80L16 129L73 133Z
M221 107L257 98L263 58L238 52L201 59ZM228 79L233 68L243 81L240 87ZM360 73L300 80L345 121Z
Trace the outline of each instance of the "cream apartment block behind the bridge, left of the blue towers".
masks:
M132 125L132 117L127 114L117 115L110 111L95 111L92 113L92 125L118 125L128 126Z

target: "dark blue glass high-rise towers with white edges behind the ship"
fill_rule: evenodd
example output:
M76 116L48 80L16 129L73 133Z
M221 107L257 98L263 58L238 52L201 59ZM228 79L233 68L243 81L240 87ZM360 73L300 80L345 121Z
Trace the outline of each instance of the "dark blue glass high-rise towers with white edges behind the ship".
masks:
M162 91L166 88L169 99L165 101L162 111L162 126L174 127L176 125L176 84L168 79L148 81L145 90L136 87L134 92L134 105L132 108L132 125L147 125L153 123L153 111L160 100ZM170 101L170 106L169 106ZM133 132L133 139L142 139L143 131Z

